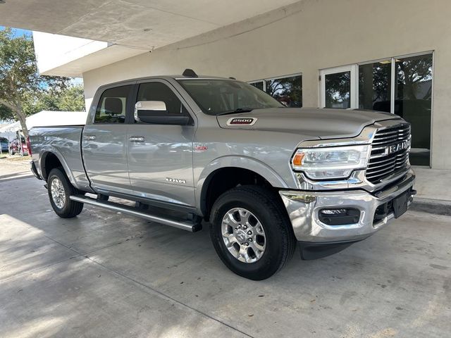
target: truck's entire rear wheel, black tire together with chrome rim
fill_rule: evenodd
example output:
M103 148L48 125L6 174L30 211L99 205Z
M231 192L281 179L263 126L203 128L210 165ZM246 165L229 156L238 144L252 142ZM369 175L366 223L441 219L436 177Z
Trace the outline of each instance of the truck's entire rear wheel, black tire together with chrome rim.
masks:
M70 184L62 168L54 168L50 171L47 179L47 191L51 207L59 217L73 218L82 212L83 204L69 198L70 195L77 194L78 190Z

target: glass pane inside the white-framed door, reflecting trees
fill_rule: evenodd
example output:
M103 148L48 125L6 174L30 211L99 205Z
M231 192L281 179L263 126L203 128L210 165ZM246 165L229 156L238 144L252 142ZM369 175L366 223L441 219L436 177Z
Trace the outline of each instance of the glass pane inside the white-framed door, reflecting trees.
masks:
M351 72L327 74L325 81L326 108L350 108Z

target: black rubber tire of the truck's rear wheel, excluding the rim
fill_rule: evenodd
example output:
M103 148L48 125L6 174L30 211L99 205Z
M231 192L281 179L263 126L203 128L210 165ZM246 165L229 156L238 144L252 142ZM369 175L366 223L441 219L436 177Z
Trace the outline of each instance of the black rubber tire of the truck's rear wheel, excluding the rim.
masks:
M64 190L64 204L62 208L56 206L55 201L52 197L52 182L58 179ZM83 204L80 202L70 200L70 195L75 195L78 193L78 190L73 187L70 183L66 173L64 173L63 168L54 168L50 171L49 177L47 179L47 191L49 193L49 199L51 207L54 208L56 215L61 218L73 218L76 215L79 215L83 210Z

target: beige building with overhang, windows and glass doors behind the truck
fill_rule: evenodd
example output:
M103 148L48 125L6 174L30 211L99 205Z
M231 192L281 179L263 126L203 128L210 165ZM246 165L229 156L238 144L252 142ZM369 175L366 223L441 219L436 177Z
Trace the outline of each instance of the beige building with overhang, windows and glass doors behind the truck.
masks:
M0 23L37 31L40 72L83 77L87 108L101 84L192 68L292 106L397 113L412 163L445 169L450 13L448 0L6 0Z

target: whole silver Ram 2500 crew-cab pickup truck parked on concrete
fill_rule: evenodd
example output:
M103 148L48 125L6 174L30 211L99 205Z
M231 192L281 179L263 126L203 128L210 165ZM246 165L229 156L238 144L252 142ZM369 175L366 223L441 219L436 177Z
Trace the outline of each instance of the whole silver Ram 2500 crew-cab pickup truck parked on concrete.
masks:
M209 224L223 263L252 280L296 246L327 256L400 217L415 194L410 139L397 115L286 108L192 70L100 87L85 125L30 131L57 215L89 204L191 232Z

